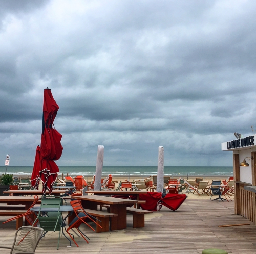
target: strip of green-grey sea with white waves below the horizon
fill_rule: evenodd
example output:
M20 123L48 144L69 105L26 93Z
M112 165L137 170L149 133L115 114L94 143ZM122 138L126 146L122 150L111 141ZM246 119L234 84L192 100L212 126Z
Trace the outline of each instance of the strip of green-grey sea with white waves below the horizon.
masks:
M0 175L5 173L14 176L31 175L33 166L0 166ZM95 174L96 166L59 166L59 175L91 177ZM142 177L157 175L157 166L103 166L102 176ZM233 167L204 167L204 166L164 166L164 174L171 176L233 176Z

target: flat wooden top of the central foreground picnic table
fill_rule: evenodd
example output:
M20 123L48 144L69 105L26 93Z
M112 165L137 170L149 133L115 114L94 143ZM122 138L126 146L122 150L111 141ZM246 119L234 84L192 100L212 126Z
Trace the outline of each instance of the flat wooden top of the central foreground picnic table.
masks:
M76 196L76 199L97 202L98 204L135 204L137 200L123 199L116 197L104 197L104 196Z

